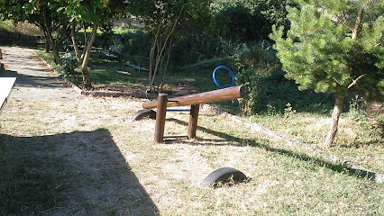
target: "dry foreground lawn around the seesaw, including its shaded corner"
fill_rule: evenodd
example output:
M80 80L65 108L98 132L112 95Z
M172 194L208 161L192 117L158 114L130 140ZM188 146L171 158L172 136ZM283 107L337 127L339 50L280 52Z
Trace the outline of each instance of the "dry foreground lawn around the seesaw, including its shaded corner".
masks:
M83 215L373 215L383 214L384 188L312 157L300 147L252 133L224 116L201 113L197 139L154 145L154 121L130 121L142 101L83 97L66 102L11 100L2 113L6 161L50 159L36 175L56 170L41 208L23 214ZM185 134L187 115L167 113L166 134ZM308 124L309 119L301 121ZM314 127L315 128L315 127ZM297 133L299 134L299 133ZM31 148L16 148L32 141ZM36 139L40 141L36 141ZM2 139L5 140L5 139ZM41 141L43 140L43 141ZM40 149L33 157L26 151ZM382 147L375 147L379 167ZM367 155L367 150L353 158ZM12 164L12 163L11 163ZM231 166L250 179L202 188L216 168ZM12 173L11 173L12 174ZM14 175L14 181L22 181ZM36 181L32 176L31 181ZM19 185L20 186L20 185ZM19 189L21 186L19 187ZM55 189L58 188L58 189ZM23 191L23 190L21 190ZM46 194L47 200L53 199ZM10 201L13 202L13 201ZM14 201L16 202L16 201ZM46 202L46 201L44 201ZM4 208L4 206L2 206ZM5 211L6 212L6 211ZM12 212L11 212L12 213Z

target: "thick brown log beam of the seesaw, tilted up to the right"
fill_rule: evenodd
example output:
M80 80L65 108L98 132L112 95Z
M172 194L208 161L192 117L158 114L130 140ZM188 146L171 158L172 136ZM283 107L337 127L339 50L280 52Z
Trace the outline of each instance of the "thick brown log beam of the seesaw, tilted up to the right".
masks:
M190 94L186 96L169 98L167 107L221 102L242 98L246 95L248 95L248 87L246 85L239 85L200 94ZM144 109L152 109L156 108L157 106L157 101L142 103L142 108Z

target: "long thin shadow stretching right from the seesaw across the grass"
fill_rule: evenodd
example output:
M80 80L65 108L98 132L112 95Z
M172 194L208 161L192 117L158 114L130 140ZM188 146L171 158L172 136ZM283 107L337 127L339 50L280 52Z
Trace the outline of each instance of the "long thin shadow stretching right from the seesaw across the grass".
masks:
M178 124L181 124L183 126L187 126L187 122L185 122L185 121L180 121L178 119L173 119L173 118L169 118L167 120L168 121L174 121L174 122L176 122ZM242 147L242 146L249 145L251 147L263 148L263 149L268 150L270 152L278 153L279 155L284 155L284 156L288 156L288 157L296 157L296 158L304 160L304 161L314 161L317 165L325 166L325 167L327 167L329 169L332 169L332 170L334 170L335 172L338 172L338 173L344 173L344 174L352 175L352 176L355 176L355 177L358 177L358 178L366 177L366 178L368 178L370 180L375 180L376 179L376 175L377 175L376 173L370 172L370 171L367 171L367 170L351 168L351 167L348 166L348 164L334 164L334 163L331 163L331 162L326 161L324 159L315 158L315 157L309 157L306 154L297 153L297 152L294 152L294 151L291 151L291 150L288 150L288 149L273 148L273 147L270 147L270 145L268 145L266 143L257 142L255 139L238 138L238 137L234 137L234 136L228 135L228 134L223 133L223 132L207 129L207 128L204 128L204 127L201 127L201 126L197 126L197 132L198 132L198 130L204 131L206 133L212 134L212 135L214 135L216 137L225 139L225 140L230 141L230 142L238 143L238 144L233 144L233 143L227 144L227 145L230 145L230 146ZM198 140L199 139L197 139L197 141ZM207 140L209 141L211 139L207 139ZM215 139L213 139L213 140L215 140ZM166 143L169 143L169 142L172 142L172 141L171 140L167 140L166 141ZM183 139L178 139L178 142L183 142L183 143L186 143L186 144L189 144L189 145L205 145L205 146L206 145L213 145L213 146L222 146L222 145L224 145L224 144L218 144L218 145L217 144L207 144L206 142L204 142L202 144L198 144L198 143L193 143L193 142L185 141L185 139L184 140Z

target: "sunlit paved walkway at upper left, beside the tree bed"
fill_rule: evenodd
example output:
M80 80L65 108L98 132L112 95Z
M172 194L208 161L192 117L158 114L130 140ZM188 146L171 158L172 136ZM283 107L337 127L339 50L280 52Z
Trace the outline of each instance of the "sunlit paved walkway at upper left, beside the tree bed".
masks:
M5 52L0 76L16 77L11 98L28 101L73 100L80 96L57 74L44 66L34 49L0 47Z

